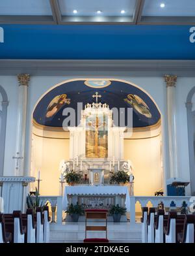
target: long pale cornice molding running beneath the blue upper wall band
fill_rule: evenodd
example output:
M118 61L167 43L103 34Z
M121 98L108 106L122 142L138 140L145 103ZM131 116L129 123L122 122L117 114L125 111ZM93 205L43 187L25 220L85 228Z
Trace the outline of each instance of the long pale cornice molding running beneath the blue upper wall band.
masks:
M0 59L0 75L31 76L128 75L194 77L195 60L173 59ZM113 73L112 73L113 72Z

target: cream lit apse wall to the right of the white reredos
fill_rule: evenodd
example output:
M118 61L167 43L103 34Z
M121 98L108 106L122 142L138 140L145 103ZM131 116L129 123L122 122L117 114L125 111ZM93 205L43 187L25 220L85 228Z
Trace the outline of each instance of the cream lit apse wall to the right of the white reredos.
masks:
M154 196L162 187L160 135L125 140L124 149L124 159L133 163L135 195Z

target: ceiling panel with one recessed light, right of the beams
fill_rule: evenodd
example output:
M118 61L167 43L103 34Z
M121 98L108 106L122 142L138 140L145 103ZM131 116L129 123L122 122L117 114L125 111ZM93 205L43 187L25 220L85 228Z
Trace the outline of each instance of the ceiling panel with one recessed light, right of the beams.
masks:
M161 8L164 3L164 8ZM195 0L145 0L143 16L195 16Z

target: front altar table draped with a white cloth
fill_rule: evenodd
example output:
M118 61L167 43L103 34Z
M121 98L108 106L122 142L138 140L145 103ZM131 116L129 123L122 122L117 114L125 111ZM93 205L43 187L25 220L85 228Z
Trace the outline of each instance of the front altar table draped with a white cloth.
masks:
M76 185L66 186L63 197L63 210L67 209L68 204L81 204L87 208L111 208L113 205L130 209L130 197L127 186L120 185Z

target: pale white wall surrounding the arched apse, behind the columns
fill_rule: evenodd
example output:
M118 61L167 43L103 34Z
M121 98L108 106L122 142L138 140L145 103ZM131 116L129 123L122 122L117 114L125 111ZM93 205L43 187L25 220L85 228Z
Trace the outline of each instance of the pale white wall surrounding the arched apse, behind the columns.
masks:
M84 78L90 75L83 76ZM93 77L101 77L98 75ZM110 76L103 76L110 78ZM75 74L70 77L60 76L32 76L29 84L29 99L28 99L28 116L27 116L27 140L26 140L26 159L25 170L28 173L31 165L31 115L36 101L42 96L47 89L55 84L70 78L77 78ZM79 76L82 78L82 76ZM155 100L162 114L162 143L164 156L164 170L168 178L168 138L167 138L167 123L166 123L166 85L164 79L161 77L128 77L128 76L112 76L135 83L137 86L145 89L151 97ZM0 84L5 88L8 94L10 104L8 106L8 122L6 131L6 149L5 149L5 170L4 174L13 174L14 161L12 156L15 152L16 140L16 106L18 94L18 82L15 76L0 76ZM182 178L189 178L188 165L188 137L187 137L187 113L185 108L185 101L188 91L195 85L195 78L177 78L177 145L178 145L178 159L179 159L179 173ZM188 191L189 192L189 191Z

